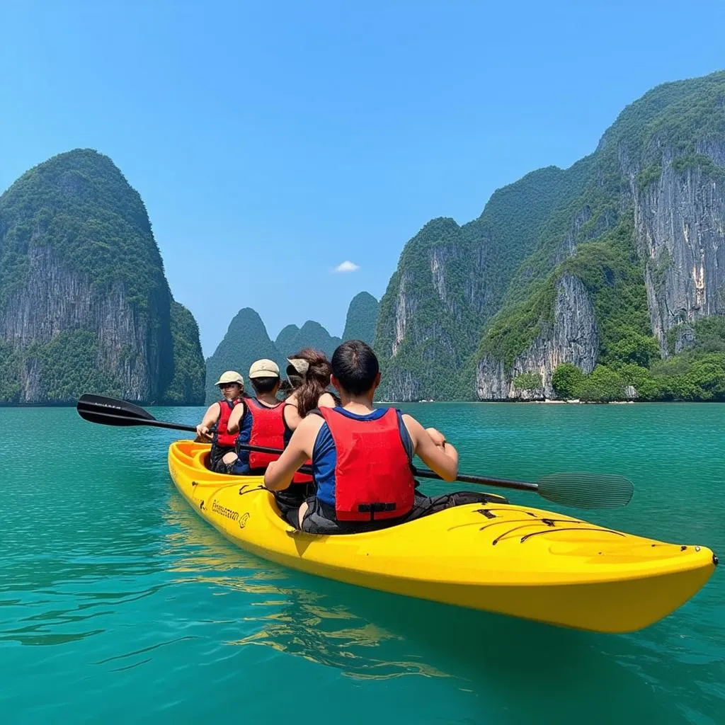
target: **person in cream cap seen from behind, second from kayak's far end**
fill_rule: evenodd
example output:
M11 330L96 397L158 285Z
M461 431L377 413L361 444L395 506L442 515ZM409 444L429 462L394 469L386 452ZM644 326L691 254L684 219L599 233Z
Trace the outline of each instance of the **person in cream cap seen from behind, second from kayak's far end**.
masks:
M252 363L249 381L255 396L244 397L229 416L228 431L239 433L239 437L236 451L223 458L229 473L241 476L261 475L279 455L249 452L239 444L279 449L284 446L284 403L277 399L281 383L277 363L267 358Z

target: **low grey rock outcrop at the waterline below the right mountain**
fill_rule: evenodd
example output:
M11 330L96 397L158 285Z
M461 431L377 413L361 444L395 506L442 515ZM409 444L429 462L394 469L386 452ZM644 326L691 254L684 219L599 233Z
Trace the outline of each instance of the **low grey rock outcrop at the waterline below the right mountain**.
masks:
M557 287L553 322L508 368L502 357L486 355L476 368L476 392L481 400L540 400L555 397L551 378L560 363L573 363L591 373L597 363L597 318L579 278L563 276ZM539 384L517 384L519 376L538 376ZM521 378L520 378L521 379Z

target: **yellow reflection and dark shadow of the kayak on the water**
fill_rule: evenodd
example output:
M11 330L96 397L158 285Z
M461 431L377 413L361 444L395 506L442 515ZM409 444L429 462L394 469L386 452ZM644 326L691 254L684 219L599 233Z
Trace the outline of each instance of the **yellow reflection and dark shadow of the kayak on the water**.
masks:
M526 711L527 717L553 708L576 721L583 716L578 708L597 701L597 711L586 713L589 722L621 717L624 703L630 715L660 713L663 722L685 721L674 703L668 705L664 688L618 663L644 654L626 638L450 608L289 571L236 550L181 497L170 500L169 523L176 532L167 543L171 550L181 547L175 571L249 595L240 622L253 623L254 631L228 640L229 645L269 647L354 679L452 679L459 689L485 695L487 707L496 703ZM249 616L257 607L260 615ZM609 647L612 656L600 651L606 642L615 642ZM616 697L602 698L603 682ZM526 687L525 700L520 687Z

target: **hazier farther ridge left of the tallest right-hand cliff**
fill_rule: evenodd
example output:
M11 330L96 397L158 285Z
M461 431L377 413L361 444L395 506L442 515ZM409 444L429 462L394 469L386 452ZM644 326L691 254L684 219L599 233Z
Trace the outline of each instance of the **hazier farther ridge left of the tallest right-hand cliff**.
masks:
M381 396L473 399L468 360L481 330L534 251L547 215L571 194L570 177L538 170L498 190L478 219L463 226L434 219L408 241L378 314Z

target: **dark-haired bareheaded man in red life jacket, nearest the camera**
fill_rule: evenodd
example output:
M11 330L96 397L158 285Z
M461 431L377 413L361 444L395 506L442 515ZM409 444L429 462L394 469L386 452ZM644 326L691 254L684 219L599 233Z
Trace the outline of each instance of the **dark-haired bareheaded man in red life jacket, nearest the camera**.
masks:
M458 471L458 454L435 428L425 429L394 408L376 408L378 359L368 344L350 340L334 352L331 381L341 406L312 411L265 473L265 486L286 489L308 458L317 494L300 508L297 524L313 534L345 534L402 523L433 510L415 493L411 463L421 457L445 481ZM479 499L480 500L480 499ZM455 505L450 500L450 505Z

